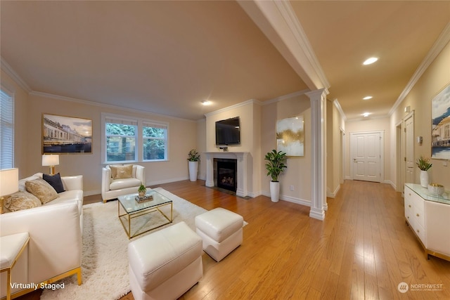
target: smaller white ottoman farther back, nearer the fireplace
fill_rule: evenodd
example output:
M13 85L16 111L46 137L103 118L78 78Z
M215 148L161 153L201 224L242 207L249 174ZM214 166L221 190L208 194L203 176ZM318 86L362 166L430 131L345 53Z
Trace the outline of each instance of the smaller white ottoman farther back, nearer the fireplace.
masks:
M203 250L215 261L221 261L242 244L242 216L218 207L195 217L197 234L202 237Z

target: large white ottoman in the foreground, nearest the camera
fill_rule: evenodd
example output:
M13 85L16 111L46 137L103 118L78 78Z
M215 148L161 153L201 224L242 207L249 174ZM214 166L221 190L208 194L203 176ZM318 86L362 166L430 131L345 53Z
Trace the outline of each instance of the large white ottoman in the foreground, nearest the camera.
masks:
M202 239L176 223L128 244L134 299L177 299L203 275Z

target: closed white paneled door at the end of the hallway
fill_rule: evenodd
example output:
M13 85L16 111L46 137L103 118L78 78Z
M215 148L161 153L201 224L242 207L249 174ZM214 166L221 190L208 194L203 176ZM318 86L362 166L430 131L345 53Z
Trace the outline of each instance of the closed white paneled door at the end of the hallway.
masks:
M351 133L350 151L352 178L354 180L380 182L380 131Z

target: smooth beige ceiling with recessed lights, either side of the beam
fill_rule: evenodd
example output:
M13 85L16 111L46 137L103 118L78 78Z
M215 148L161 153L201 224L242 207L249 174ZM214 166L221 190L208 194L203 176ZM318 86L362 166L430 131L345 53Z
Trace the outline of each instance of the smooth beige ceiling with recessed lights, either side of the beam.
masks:
M2 66L28 91L193 120L311 89L243 2L2 0ZM284 4L347 119L386 116L450 20L450 1Z

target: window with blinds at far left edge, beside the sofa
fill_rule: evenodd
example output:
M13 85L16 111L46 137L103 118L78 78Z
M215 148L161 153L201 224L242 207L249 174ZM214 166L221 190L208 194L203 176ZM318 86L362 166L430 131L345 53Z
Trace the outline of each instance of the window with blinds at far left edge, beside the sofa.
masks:
M14 167L14 98L0 90L0 169Z

